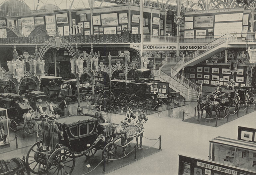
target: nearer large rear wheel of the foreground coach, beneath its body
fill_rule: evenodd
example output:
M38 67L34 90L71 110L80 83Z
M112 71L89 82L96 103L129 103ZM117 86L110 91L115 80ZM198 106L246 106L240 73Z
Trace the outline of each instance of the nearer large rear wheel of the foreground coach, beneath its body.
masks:
M47 175L71 174L75 167L75 155L71 149L61 147L56 149L48 159L46 170Z

